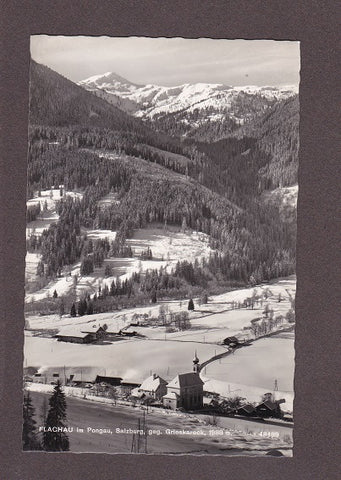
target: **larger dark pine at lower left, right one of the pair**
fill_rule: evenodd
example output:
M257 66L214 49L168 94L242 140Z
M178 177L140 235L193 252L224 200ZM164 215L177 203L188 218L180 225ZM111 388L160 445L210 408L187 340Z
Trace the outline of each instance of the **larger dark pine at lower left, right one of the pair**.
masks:
M70 449L69 438L64 431L67 428L65 423L66 401L59 380L49 400L49 406L43 434L44 450L52 452L68 451Z

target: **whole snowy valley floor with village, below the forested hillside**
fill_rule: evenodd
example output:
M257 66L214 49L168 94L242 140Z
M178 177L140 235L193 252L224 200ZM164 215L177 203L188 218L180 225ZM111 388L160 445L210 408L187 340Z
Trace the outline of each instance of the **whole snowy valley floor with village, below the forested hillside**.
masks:
M294 292L292 277L210 296L205 304L195 298L194 310L171 301L75 318L27 316L25 390L39 410L62 385L74 451L215 454L226 442L236 448L237 435L252 454L255 434L268 435L265 452L290 455ZM186 328L176 323L180 312ZM89 419L95 438L77 433L78 423ZM112 435L105 443L98 438L108 422ZM167 434L181 429L191 438L183 433L179 443L180 433ZM147 431L159 433L150 433L144 447ZM120 435L129 439L115 440ZM240 448L244 454L245 445Z

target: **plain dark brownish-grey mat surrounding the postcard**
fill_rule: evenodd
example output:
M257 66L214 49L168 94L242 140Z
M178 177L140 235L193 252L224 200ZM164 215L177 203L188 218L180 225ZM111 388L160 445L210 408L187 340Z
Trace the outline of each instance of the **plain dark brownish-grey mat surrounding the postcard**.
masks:
M1 11L0 477L336 478L338 2L2 0ZM21 452L29 36L38 33L301 42L294 458Z

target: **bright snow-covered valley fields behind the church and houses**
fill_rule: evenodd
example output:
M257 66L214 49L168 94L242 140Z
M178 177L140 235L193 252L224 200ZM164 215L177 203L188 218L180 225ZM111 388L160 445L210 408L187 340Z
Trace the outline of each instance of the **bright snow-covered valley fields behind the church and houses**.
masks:
M294 295L295 286L296 279L292 276L255 289L245 288L212 296L207 305L198 306L195 300L196 310L190 312L190 330L169 333L164 326L134 326L130 329L143 335L142 339L130 337L98 345L58 342L51 338L50 331L70 325L92 328L93 325L106 323L108 331L118 332L129 325L135 313L157 317L160 305L76 318L69 315L61 318L58 315L27 315L30 331L25 332L25 366L93 366L110 372L110 375L121 376L126 381L141 382L151 372L170 380L177 373L191 371L195 350L202 363L226 352L226 347L217 344L226 336L248 338L249 330L244 328L250 325L252 319L262 315L264 305L232 310L231 302L243 302L255 290L258 294L266 291L266 302L275 316L285 315L290 308L289 293ZM186 309L187 302L163 302L163 305L177 312ZM286 322L282 325L287 326ZM293 334L283 333L257 340L251 346L237 350L234 355L207 365L202 371L205 389L224 396L240 394L250 401L257 401L264 390L272 391L274 379L277 379L279 393L286 399L285 408L292 411L293 359Z

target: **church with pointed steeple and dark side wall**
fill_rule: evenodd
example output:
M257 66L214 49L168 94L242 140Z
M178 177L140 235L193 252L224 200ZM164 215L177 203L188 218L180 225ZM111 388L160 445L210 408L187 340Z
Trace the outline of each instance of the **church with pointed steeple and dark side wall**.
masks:
M162 397L163 405L172 410L184 408L196 410L203 407L203 385L197 354L193 359L193 372L178 374L167 385L167 393Z

